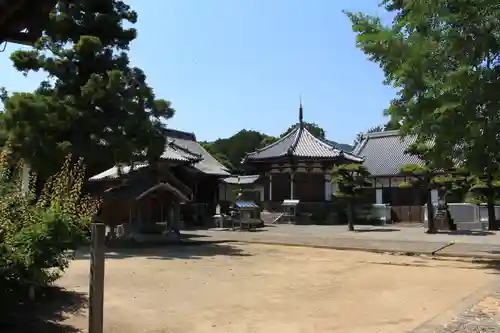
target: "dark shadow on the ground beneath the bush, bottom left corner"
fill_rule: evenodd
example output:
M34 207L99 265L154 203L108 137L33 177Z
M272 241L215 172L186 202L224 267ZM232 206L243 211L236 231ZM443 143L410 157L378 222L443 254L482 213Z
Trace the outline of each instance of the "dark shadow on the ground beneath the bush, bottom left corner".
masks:
M73 333L81 330L61 323L87 305L83 293L59 287L39 290L34 302L24 302L0 314L2 333ZM8 313L8 315L6 315Z

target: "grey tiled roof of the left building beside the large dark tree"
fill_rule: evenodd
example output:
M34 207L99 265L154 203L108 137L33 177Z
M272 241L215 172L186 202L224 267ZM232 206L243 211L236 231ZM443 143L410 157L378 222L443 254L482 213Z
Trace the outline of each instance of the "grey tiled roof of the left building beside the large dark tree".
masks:
M194 167L201 172L218 176L230 175L226 167L220 164L205 148L196 142L196 136L193 133L168 129L167 138L172 140L174 144L200 155L202 159L195 163Z

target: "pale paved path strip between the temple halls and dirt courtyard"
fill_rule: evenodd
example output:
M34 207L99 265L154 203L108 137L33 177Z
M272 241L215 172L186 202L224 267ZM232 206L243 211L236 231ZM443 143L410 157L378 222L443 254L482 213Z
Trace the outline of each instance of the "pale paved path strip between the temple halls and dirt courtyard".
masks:
M358 232L353 233L345 226L295 225L269 226L257 232L203 230L188 233L216 241L500 259L500 235L496 233L427 235L422 228L397 227L358 227Z

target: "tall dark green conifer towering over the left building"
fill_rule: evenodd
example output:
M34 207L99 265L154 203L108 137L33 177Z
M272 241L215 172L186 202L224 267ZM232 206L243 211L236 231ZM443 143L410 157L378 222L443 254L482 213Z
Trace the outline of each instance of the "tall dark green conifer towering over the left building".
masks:
M35 92L8 96L1 119L17 157L40 176L57 171L68 153L94 173L163 152L164 121L174 110L130 65L136 20L123 1L61 0L34 49L11 55L23 74L47 74Z

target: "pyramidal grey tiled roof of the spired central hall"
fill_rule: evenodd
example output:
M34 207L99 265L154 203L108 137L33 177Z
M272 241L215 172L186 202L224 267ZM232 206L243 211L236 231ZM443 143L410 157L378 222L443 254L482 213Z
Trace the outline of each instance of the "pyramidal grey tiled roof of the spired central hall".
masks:
M278 141L247 154L246 160L258 161L282 156L318 159L344 157L353 162L363 161L359 156L337 149L327 141L315 137L303 125L296 126L290 133Z

